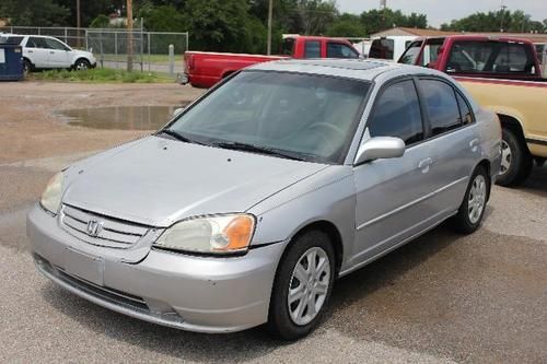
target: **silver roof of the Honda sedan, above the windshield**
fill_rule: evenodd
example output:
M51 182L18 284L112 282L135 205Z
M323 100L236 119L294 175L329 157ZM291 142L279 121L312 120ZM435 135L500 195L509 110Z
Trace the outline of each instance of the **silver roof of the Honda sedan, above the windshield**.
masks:
M363 81L373 81L381 74L388 75L388 78L408 74L431 74L445 78L443 73L423 67L364 59L290 59L257 63L249 69L344 77Z

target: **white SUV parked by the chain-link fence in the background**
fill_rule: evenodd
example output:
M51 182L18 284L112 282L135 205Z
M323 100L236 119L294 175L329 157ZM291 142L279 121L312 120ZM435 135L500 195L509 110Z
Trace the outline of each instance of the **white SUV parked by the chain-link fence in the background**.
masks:
M0 43L23 47L24 71L35 69L85 70L97 63L92 52L70 48L61 40L45 35L2 34Z

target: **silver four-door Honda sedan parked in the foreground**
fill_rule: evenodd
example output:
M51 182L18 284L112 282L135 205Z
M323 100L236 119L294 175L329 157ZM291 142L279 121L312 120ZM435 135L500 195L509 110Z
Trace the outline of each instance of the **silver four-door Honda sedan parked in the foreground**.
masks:
M482 220L500 125L449 77L363 60L246 69L159 132L56 175L37 269L118 313L296 339L337 278L450 219Z

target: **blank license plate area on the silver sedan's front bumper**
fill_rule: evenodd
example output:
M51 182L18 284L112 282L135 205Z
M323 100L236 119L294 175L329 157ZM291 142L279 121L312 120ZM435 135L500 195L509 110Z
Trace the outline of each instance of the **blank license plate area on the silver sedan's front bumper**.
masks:
M63 268L68 274L75 275L88 282L103 285L104 260L71 248L65 249Z

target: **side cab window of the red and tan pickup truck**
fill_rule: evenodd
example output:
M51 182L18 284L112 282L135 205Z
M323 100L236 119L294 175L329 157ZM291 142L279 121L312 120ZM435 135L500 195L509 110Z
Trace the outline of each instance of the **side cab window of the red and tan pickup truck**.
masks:
M534 74L535 59L525 44L455 42L446 72Z

